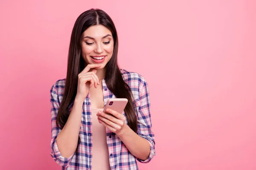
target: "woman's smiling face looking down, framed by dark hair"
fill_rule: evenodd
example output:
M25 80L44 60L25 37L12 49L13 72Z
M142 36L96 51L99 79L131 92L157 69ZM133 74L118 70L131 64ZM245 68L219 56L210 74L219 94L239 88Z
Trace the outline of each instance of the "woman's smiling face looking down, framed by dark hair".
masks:
M81 49L87 64L101 64L98 69L104 68L114 49L111 31L102 25L90 26L82 34Z

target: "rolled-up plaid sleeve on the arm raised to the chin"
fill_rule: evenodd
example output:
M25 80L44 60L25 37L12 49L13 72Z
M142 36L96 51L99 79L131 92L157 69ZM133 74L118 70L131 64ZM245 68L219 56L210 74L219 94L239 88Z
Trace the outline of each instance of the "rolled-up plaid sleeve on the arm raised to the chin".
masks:
M56 143L56 138L58 134L61 132L61 129L59 129L56 125L56 119L57 119L57 113L58 108L60 106L60 102L58 99L58 93L56 90L55 85L52 85L51 91L50 91L50 97L51 97L51 114L52 114L52 139L51 139L51 156L55 160L55 162L62 167L67 167L70 164L70 161L73 157L70 156L69 158L65 158L61 156L60 151L58 150L58 146Z

